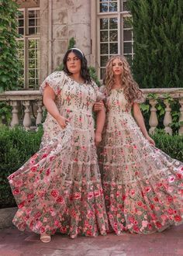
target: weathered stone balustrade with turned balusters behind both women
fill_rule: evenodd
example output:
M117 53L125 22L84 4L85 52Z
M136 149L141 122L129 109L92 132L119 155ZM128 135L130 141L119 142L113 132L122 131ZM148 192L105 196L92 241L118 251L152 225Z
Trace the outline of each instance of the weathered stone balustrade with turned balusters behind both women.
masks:
M179 122L183 122L183 88L148 88L143 89L145 95L156 94L158 99L162 99L165 104L164 115L164 130L166 133L172 134L169 124L171 119L171 106L167 101L165 94L171 96L172 99L178 99L180 103L180 117ZM12 120L10 126L23 125L26 130L33 127L33 119L36 126L41 123L43 117L43 101L40 91L9 91L0 94L0 101L7 102L12 106ZM150 130L149 133L154 133L158 125L157 119L157 99L150 99ZM23 108L22 123L20 123L19 109ZM36 113L33 114L33 109L36 109ZM183 134L183 125L181 124L179 134Z

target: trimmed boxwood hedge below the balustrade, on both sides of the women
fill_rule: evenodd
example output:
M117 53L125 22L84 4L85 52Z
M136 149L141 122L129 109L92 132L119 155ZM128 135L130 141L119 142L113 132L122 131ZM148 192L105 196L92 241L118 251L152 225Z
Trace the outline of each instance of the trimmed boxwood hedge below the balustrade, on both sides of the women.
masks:
M0 126L0 208L16 206L7 177L24 164L40 147L43 129L26 131L20 127ZM157 130L152 136L156 147L183 161L183 136Z

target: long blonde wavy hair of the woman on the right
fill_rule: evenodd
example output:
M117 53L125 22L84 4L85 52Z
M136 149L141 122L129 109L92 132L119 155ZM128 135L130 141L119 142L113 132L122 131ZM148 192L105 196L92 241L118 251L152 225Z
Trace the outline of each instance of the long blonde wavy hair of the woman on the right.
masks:
M121 74L121 85L123 87L123 92L125 99L129 104L133 102L143 102L144 96L143 92L140 90L139 85L133 80L129 64L126 61L126 57L121 55L115 55L109 58L105 67L105 75L103 79L103 85L105 85L106 93L109 95L112 85L115 84L114 74L112 71L112 62L119 59L123 63L123 73Z

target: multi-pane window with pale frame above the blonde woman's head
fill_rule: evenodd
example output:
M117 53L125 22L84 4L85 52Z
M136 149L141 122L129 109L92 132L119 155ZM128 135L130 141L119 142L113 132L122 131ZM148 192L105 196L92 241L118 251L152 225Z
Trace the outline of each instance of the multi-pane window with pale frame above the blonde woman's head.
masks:
M131 17L127 10L127 0L101 0L98 2L100 13L99 26L99 63L100 78L103 78L104 67L109 57L123 54L129 64L133 58L133 30ZM115 12L112 14L112 12ZM120 18L119 18L120 16ZM122 22L119 22L122 21ZM120 38L119 38L120 36Z

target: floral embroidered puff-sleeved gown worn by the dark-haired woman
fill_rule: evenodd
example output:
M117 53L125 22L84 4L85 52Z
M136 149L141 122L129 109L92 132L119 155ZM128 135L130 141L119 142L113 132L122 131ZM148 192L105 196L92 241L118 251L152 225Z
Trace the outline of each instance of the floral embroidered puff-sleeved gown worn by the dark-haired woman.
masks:
M41 85L53 88L61 116L70 120L61 130L47 114L39 152L9 176L19 210L13 223L37 234L60 231L96 236L108 228L94 141L92 107L98 87L78 84L56 71Z

